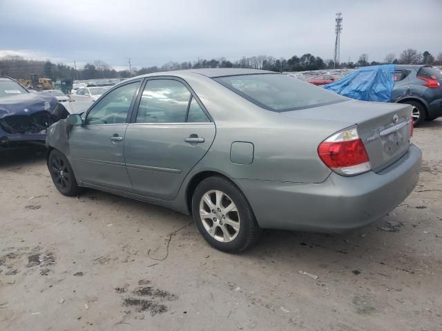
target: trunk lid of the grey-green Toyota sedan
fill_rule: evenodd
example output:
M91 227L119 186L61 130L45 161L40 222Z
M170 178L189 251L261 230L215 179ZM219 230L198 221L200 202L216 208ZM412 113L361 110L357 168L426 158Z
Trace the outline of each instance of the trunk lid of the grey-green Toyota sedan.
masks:
M356 124L374 172L394 163L410 148L412 106L407 104L350 100L281 114L295 119L337 121L343 129Z

